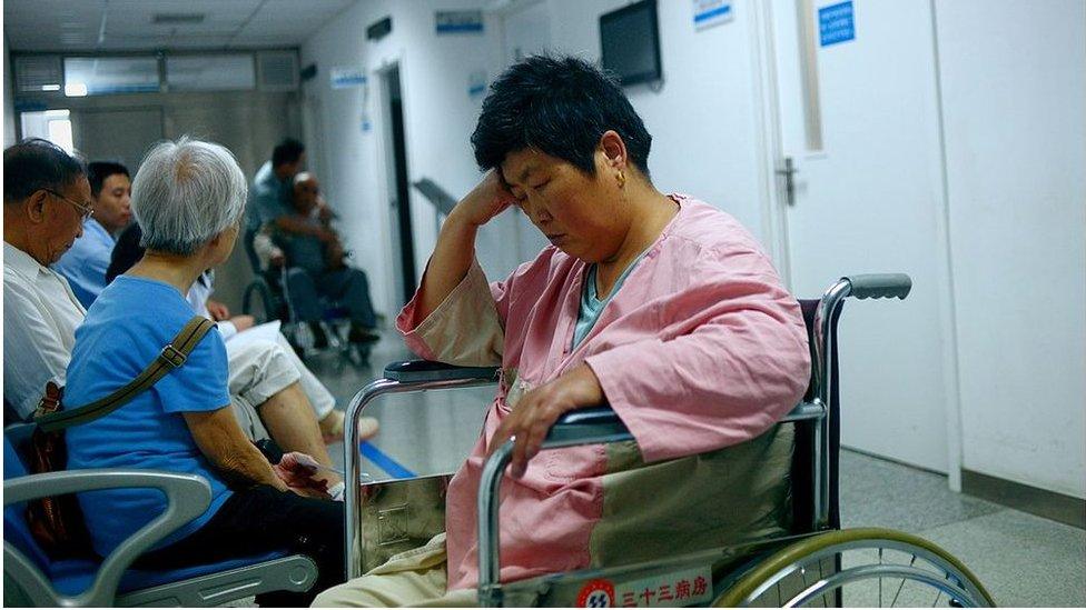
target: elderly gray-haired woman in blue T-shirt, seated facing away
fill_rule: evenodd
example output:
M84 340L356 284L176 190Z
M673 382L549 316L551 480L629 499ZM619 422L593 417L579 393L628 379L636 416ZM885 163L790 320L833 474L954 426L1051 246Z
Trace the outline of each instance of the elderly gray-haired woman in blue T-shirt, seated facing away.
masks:
M185 300L189 287L234 249L245 197L237 161L218 144L181 139L148 153L131 200L147 252L102 291L76 330L66 403L87 404L108 396L158 358L194 316ZM140 561L167 568L287 549L317 562L315 594L343 580L343 504L328 499L328 477L312 458L292 452L273 466L244 434L230 407L227 366L223 339L213 329L184 366L150 390L71 428L69 468L204 477L211 486L208 510ZM292 411L299 429L295 434L317 439L324 451L316 419L296 382L258 409L265 421L268 410ZM317 457L327 460L326 452ZM157 491L141 489L85 492L79 502L95 550L103 556L166 508ZM312 598L272 596L258 601L295 606Z

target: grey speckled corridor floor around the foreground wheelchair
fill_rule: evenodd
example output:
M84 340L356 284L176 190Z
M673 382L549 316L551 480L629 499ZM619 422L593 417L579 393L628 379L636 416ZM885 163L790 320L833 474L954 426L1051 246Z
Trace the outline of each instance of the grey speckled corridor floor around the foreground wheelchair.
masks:
M411 354L385 337L369 367L313 362L346 408L354 393L381 377L384 364ZM477 439L488 389L427 392L375 402L381 433L373 444L419 474L452 471ZM342 447L334 449L342 460ZM364 461L377 478L384 473ZM955 493L939 474L860 453L841 456L845 527L886 527L927 538L969 567L1000 606L1086 606L1086 532Z

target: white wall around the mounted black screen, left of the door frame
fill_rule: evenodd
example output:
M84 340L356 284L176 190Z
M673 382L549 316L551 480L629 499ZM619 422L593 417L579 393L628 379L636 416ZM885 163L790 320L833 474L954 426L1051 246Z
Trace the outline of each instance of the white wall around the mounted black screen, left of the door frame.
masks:
M600 16L628 3L549 0L554 49L599 60ZM638 86L626 94L652 134L649 171L656 188L685 192L731 213L768 248L750 9L737 1L731 21L694 31L692 2L661 1L663 88L654 92Z

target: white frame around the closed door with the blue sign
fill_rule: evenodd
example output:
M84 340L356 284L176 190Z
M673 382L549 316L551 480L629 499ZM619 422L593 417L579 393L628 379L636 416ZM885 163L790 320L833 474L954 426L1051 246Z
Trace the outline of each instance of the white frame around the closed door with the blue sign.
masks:
M857 2L862 0L855 0ZM942 361L942 377L947 388L947 404L944 406L945 426L947 429L947 480L951 490L961 491L961 391L958 374L958 340L957 319L954 307L954 273L950 264L952 252L949 231L949 208L947 193L946 166L946 133L944 129L942 88L939 72L939 48L936 32L935 0L928 0L931 11L931 43L934 46L935 89L938 104L938 154L936 174L939 176L940 188L937 193L939 213L936 214L936 236L938 267L936 292L938 293L939 324L946 330L941 343L940 359ZM812 10L817 2L811 2ZM776 170L783 162L783 142L781 134L780 87L777 73L777 44L774 32L773 9L771 2L752 2L748 4L749 30L751 32L752 92L757 156L759 159L759 193L762 211L762 230L766 241L786 287L792 288L790 248L788 236L788 214L786 210L787 196ZM816 53L817 57L817 53ZM823 133L825 137L825 133ZM811 154L828 154L823 149ZM848 270L842 270L847 272Z

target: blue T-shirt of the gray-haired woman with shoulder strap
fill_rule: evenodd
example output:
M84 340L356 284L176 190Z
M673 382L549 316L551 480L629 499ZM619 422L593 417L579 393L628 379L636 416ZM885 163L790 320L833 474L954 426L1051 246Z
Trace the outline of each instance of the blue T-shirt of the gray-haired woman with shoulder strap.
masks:
M119 276L76 329L65 406L82 407L129 383L192 316L192 308L174 287ZM210 507L159 547L180 540L204 526L230 496L181 416L227 407L227 383L226 346L213 329L185 366L112 413L69 428L68 468L155 469L204 477L211 486ZM166 510L165 496L154 489L88 491L78 496L95 550L102 556Z

